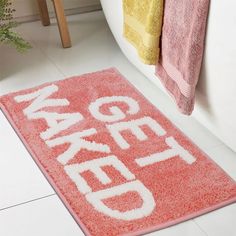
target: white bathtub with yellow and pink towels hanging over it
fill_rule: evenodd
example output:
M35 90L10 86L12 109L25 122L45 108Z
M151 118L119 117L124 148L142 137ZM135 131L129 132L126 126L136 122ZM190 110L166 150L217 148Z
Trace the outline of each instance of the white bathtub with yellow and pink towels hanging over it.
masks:
M163 90L154 66L144 65L122 37L122 0L101 0L111 31L123 53L154 86ZM236 151L236 1L211 1L206 48L193 116ZM170 98L171 99L171 98Z

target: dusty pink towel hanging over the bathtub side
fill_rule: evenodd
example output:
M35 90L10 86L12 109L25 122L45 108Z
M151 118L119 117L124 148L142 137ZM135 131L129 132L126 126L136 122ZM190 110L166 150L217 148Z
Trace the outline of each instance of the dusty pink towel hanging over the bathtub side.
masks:
M186 115L194 108L209 2L165 1L161 59L156 66L156 75Z

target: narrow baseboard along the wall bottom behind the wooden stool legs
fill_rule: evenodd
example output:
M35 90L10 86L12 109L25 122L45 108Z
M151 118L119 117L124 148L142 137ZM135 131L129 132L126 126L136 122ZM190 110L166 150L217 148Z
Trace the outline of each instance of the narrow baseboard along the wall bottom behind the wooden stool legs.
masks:
M91 5L91 6L82 6L82 7L77 7L73 9L66 9L65 14L69 16L69 15L81 14L81 13L86 13L86 12L98 11L101 9L102 9L101 5L96 4L96 5ZM55 13L49 12L49 16L50 18L54 18ZM40 19L40 17L39 17L39 14L34 14L34 15L29 15L29 16L15 17L14 19L19 23L24 23L24 22L37 21Z

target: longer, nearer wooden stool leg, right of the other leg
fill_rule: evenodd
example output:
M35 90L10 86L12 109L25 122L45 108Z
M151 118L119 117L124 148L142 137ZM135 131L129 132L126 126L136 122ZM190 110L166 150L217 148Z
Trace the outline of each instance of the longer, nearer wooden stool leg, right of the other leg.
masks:
M57 23L61 35L61 42L64 48L71 47L71 40L70 40L70 34L66 22L66 17L64 13L64 7L62 0L52 0L54 9L57 16Z

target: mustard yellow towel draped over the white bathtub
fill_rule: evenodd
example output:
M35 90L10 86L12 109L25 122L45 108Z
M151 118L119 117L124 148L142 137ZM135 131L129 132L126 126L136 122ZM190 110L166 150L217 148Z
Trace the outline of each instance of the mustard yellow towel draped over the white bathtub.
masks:
M124 36L145 64L156 65L160 53L164 0L123 0Z

